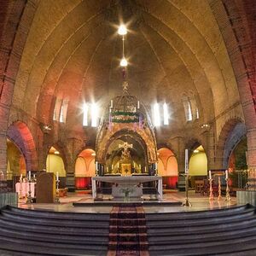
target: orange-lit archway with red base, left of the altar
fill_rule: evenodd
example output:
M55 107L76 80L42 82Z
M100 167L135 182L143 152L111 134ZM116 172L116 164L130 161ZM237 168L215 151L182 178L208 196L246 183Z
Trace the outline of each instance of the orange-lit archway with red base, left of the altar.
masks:
M86 148L78 156L75 163L76 189L90 189L91 177L95 176L95 157L93 149Z

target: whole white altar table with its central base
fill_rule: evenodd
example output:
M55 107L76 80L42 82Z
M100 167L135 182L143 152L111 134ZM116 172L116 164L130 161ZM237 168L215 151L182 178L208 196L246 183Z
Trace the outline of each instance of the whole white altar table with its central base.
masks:
M163 195L163 188L162 188L162 177L160 176L97 176L91 177L91 189L92 189L92 198L96 198L96 182L105 182L105 183L113 183L112 193L116 195L118 192L120 195L125 193L125 189L130 189L131 195L132 193L137 193L140 195L143 189L143 183L154 182L157 181L157 191L160 199ZM119 188L117 191L116 188Z

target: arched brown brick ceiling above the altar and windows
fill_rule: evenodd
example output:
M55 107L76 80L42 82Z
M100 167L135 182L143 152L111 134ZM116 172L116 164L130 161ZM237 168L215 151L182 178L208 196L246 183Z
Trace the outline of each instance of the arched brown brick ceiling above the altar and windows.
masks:
M82 129L78 113L84 99L104 108L121 92L121 20L129 30L130 93L148 106L168 102L170 131L186 124L184 93L195 94L201 123L239 102L230 59L207 1L44 0L26 40L13 104L50 123L55 98L67 98L67 128Z

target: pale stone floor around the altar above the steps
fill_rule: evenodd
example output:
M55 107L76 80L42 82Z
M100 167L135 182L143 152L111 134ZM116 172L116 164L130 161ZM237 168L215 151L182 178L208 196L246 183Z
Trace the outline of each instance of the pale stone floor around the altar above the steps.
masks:
M106 197L107 199L107 197ZM149 195L145 195L145 199L149 199ZM195 193L194 190L189 191L189 202L192 204L192 207L182 207L182 206L166 206L161 204L161 202L184 202L185 201L185 193L177 192L174 190L168 190L163 195L163 199L159 201L159 205L144 205L143 208L146 213L153 212L191 212L191 211L202 211L202 210L212 210L223 207L232 207L236 205L236 197L231 197L231 201L227 202L224 200L218 201L215 198L213 201L209 201L207 196L202 196L200 194ZM93 202L90 194L81 192L78 193L68 193L66 197L60 198L60 204L26 204L26 201L20 200L19 207L33 209L33 210L49 210L56 212L105 212L108 213L111 211L112 206L109 206L108 203L106 206L97 206L91 205ZM73 207L73 202L88 202L89 206L85 207Z

